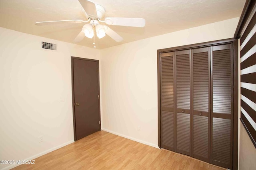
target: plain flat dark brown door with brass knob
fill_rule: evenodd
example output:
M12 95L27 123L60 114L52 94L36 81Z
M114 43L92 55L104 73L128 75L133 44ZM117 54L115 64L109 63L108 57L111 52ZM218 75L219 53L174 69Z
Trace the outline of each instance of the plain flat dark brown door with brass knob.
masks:
M72 57L75 140L100 131L98 61Z

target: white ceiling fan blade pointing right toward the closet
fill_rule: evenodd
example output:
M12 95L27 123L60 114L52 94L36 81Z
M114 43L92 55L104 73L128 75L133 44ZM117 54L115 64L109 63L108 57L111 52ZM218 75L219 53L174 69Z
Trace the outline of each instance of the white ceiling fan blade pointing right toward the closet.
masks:
M144 27L146 21L143 18L112 18L107 17L105 19L108 25L120 25L120 26L130 26L130 27Z

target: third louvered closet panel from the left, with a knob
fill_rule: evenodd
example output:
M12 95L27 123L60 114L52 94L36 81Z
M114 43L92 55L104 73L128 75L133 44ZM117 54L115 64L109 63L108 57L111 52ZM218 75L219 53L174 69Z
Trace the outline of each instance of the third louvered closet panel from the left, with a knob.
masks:
M210 47L192 49L192 157L210 162Z

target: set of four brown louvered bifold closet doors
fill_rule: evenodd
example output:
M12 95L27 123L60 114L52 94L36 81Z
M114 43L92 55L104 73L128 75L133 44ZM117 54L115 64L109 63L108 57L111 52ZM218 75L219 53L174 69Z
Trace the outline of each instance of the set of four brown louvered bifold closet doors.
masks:
M232 46L160 54L161 148L232 168Z

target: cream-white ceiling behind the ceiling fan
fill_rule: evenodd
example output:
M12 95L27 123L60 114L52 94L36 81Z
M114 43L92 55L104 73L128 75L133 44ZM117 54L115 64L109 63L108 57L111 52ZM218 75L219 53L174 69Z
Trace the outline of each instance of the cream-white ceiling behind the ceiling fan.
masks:
M106 17L144 18L146 26L109 26L121 35L120 43L96 38L96 48L162 35L190 27L239 17L246 0L92 0L106 10ZM37 26L38 21L86 20L78 0L0 0L0 26L72 43L83 23ZM103 20L103 19L102 19ZM79 45L93 47L85 37Z

